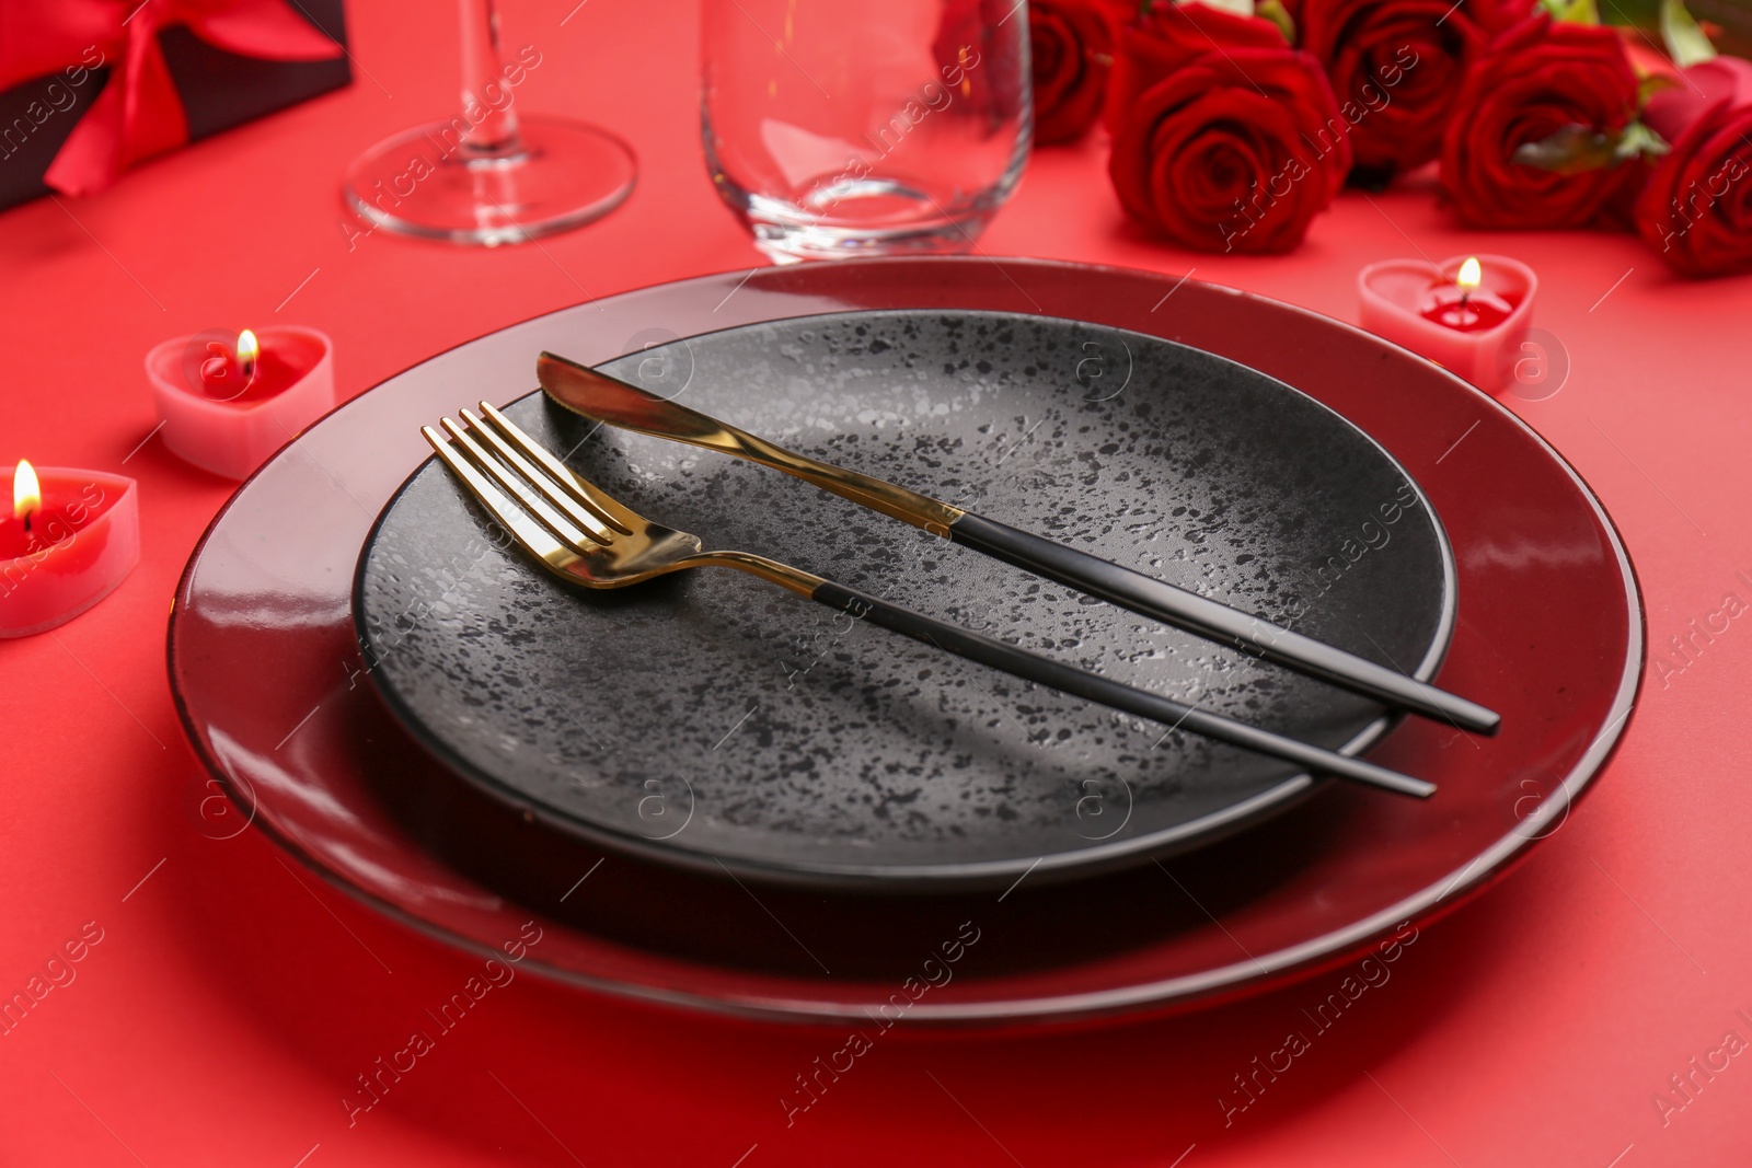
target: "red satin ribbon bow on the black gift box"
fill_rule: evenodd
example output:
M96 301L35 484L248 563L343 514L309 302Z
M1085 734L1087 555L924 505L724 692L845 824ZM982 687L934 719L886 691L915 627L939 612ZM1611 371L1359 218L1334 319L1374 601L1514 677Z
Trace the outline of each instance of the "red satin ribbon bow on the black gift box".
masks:
M68 65L110 67L109 84L44 182L63 194L93 194L142 158L189 140L182 98L158 47L159 30L173 25L238 56L322 61L342 54L286 0L0 0L0 88Z

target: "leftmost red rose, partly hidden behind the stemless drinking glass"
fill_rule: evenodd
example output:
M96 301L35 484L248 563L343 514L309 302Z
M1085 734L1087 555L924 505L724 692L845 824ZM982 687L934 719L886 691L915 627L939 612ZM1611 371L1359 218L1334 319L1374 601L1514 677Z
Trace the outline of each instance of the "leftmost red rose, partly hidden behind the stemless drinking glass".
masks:
M1072 142L1107 100L1114 25L1130 0L1028 0L1034 140Z

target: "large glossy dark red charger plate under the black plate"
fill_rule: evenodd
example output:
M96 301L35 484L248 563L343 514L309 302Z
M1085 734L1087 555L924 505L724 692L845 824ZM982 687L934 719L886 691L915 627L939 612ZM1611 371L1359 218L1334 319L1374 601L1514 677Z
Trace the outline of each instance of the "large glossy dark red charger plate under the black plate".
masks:
M363 672L350 585L371 520L429 454L419 426L477 398L527 394L543 348L594 362L734 324L934 306L1165 336L1251 364L1368 431L1417 478L1454 545L1459 616L1438 681L1498 709L1501 734L1407 720L1370 753L1437 781L1430 802L1326 785L1167 865L1042 888L1023 877L1002 895L848 897L604 858L480 795L391 720ZM170 681L245 821L464 949L496 953L534 918L545 933L526 967L594 989L785 1019L1025 1023L1263 989L1452 909L1570 814L1624 732L1642 646L1629 559L1587 485L1440 368L1233 289L929 257L625 292L384 382L282 450L208 527L177 590Z

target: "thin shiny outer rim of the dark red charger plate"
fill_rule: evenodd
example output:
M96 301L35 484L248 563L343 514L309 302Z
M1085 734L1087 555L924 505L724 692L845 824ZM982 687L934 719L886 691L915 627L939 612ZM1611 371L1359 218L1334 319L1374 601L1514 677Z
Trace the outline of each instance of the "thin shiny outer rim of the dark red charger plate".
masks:
M888 266L909 266L922 263L920 257L899 256L899 257L881 257L881 259L844 259L832 264L837 270L869 270L869 268L888 268ZM927 264L944 264L944 266L985 266L995 264L1004 271L1004 264L1020 266L1025 270L1034 270L1041 273L1099 273L1113 275L1121 278L1148 280L1170 284L1172 275L1153 271L1148 268L1128 268L1118 264L1091 264L1063 259L1035 259L1025 256L1006 256L993 257L986 254L979 256L932 256L923 257ZM808 268L771 268L769 278L785 280L806 275L815 266ZM1004 271L1007 277L1007 271ZM685 277L680 280L666 280L661 284L648 284L641 287L624 289L611 296L597 298L587 303L603 303L606 299L620 299L631 296L652 294L659 289L662 291L682 291L692 287L710 287L724 289L727 285L734 287L748 282L750 273L741 268L729 271L703 273L696 277ZM1013 280L1013 277L1007 277ZM1244 299L1261 301L1272 308L1291 312L1295 315L1310 317L1321 320L1328 327L1339 327L1344 333L1360 334L1370 343L1382 345L1389 350L1396 350L1403 355L1416 359L1419 364L1430 368L1433 375L1442 376L1451 382L1458 391L1465 392L1475 405L1482 406L1486 412L1498 417L1500 422L1507 422L1510 429L1519 431L1522 438L1531 440L1533 447L1551 459L1577 487L1587 508L1594 515L1600 529L1605 532L1607 541L1612 546L1614 560L1619 567L1621 583L1624 587L1626 609L1628 609L1628 629L1626 629L1626 658L1622 672L1619 674L1619 685L1612 695L1608 707L1608 721L1605 728L1600 730L1589 742L1587 749L1575 760L1575 763L1563 776L1559 786L1552 792L1552 797L1542 799L1538 807L1526 820L1517 823L1515 830L1498 837L1489 848L1477 853L1463 867L1452 870L1440 891L1435 891L1437 884L1430 884L1417 893L1400 898L1388 909L1377 911L1375 914L1353 921L1347 926L1328 930L1312 937L1298 946L1288 946L1284 949L1263 954L1265 960L1249 958L1247 961L1233 961L1228 965L1205 968L1197 974L1184 974L1179 977L1158 979L1142 982L1137 986L1090 991L1083 995L1060 995L1060 996L1032 996L1032 998L992 998L969 1003L941 1003L941 1002L915 1002L913 1007L902 1016L908 1026L943 1026L943 1024L978 1024L978 1026L1062 1026L1062 1024L1088 1024L1088 1023L1118 1023L1128 1017L1135 1017L1139 1012L1151 1014L1169 1014L1177 1010L1197 1009L1200 1005L1214 1003L1219 1000L1237 998L1249 993L1263 991L1270 986L1284 984L1291 979L1312 977L1326 968L1335 968L1342 965L1351 954L1358 953L1365 942L1384 935L1389 928L1395 928L1400 921L1414 921L1419 925L1430 925L1449 912L1456 911L1463 904L1468 904L1484 890L1494 886L1505 879L1519 863L1531 853L1533 846L1547 839L1552 830L1552 821L1559 827L1575 807L1579 799L1586 795L1593 786L1600 770L1612 760L1619 746L1624 741L1624 732L1628 730L1633 713L1636 709L1636 697L1645 681L1643 669L1643 648L1647 644L1647 609L1642 602L1642 587L1636 576L1636 567L1629 559L1624 538L1619 532L1617 524L1607 511L1600 496L1587 483L1587 480L1577 471L1568 459L1563 457L1545 438L1528 426L1517 413L1508 410L1505 405L1482 392L1480 389L1470 385L1468 382L1458 378L1456 375L1442 369L1435 362L1430 362L1410 350L1405 350L1393 341L1388 341L1374 333L1347 322L1330 317L1326 313L1316 312L1312 308L1303 308L1302 305L1293 305L1289 301L1275 299L1270 296L1261 296L1258 292L1249 292L1244 289L1235 289L1209 280L1191 280L1190 275L1183 275L1179 282L1193 282L1214 292L1223 292ZM785 289L788 292L788 289ZM187 737L191 749L201 762L208 776L219 783L226 797L245 813L245 823L256 823L256 806L247 792L237 788L231 776L219 765L219 760L212 756L201 744L201 735L194 727L187 704L182 692L177 686L175 672L175 632L184 611L184 599L187 587L191 583L194 566L207 548L214 532L224 517L237 504L237 499L244 489L252 483L263 469L275 462L286 454L286 450L296 445L305 433L326 422L329 417L343 410L347 405L363 398L371 389L377 389L391 380L406 375L410 369L426 364L427 361L440 357L443 354L471 345L477 340L484 340L505 329L519 327L555 313L569 312L580 305L564 305L550 312L536 313L519 322L508 326L489 329L477 336L470 336L450 348L429 354L420 361L401 368L399 371L375 382L370 389L361 391L354 398L338 403L333 410L324 413L317 422L312 422L305 431L287 440L286 447L275 452L261 468L258 468L230 499L214 513L214 518L203 529L200 539L194 543L187 562L177 580L177 590L173 594L172 613L166 625L165 650L166 665L170 671L170 693L172 704L177 713L177 720ZM1416 482L1416 480L1414 480ZM1561 795L1558 799L1556 795ZM324 883L331 884L338 891L352 897L354 900L371 907L384 916L406 925L408 928L442 940L459 951L475 956L498 956L498 951L491 946L454 933L447 928L424 921L403 907L384 900L382 897L359 888L347 881L342 874L331 870L317 856L310 855L301 844L291 839L287 834L268 823L256 823L272 842L282 848L294 860L310 869ZM1529 830L1521 830L1529 828ZM1545 830L1552 828L1552 830ZM1487 860L1487 863L1482 863ZM1435 895L1431 895L1431 891ZM534 954L533 954L534 956ZM760 1021L780 1021L797 1026L825 1026L829 1023L844 1023L865 1017L862 1003L850 1000L827 1000L827 998L790 998L783 995L745 995L745 993L720 993L717 996L704 993L690 993L682 989L669 989L661 986L646 986L629 981L615 981L611 977L597 977L592 974L582 974L576 970L568 970L561 967L548 965L541 960L529 961L531 972L541 974L559 982L578 986L583 989L599 991L622 1000L648 1002L659 1005L673 1005L687 1010L697 1010L708 1016L718 1017L753 1017Z

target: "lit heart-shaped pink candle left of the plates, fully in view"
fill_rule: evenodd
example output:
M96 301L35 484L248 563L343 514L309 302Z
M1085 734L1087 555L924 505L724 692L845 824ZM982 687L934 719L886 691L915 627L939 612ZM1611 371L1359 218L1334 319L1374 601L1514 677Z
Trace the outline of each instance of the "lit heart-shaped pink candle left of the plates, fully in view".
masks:
M198 333L158 345L145 375L165 445L194 466L249 478L335 408L335 347L315 329Z

